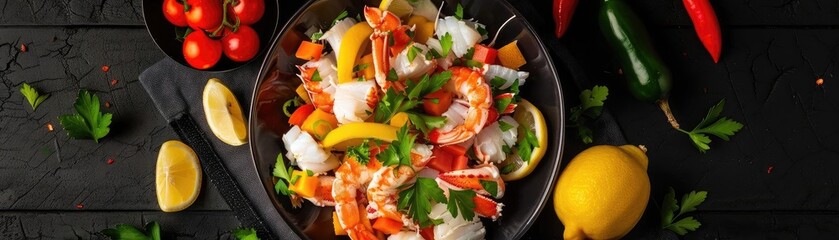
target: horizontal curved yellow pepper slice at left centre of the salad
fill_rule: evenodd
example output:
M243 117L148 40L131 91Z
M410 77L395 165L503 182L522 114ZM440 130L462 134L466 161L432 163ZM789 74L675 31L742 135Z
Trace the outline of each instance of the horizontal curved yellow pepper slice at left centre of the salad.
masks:
M392 142L396 140L397 131L399 131L398 127L381 123L347 123L329 132L321 144L324 147L333 147L345 141L357 141L367 138Z

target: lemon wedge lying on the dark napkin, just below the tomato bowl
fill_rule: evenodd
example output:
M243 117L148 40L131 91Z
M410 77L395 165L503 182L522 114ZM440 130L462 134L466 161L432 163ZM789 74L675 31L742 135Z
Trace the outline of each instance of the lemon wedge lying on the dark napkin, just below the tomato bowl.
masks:
M245 118L236 96L218 78L204 86L204 115L210 130L224 143L240 146L248 142Z

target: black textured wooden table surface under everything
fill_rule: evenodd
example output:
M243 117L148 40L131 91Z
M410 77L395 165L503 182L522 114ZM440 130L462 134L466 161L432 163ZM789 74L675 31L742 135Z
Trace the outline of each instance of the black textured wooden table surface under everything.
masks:
M702 227L686 238L839 234L839 93L831 92L839 84L837 2L712 1L723 25L719 64L681 1L630 2L674 73L671 106L681 123L695 125L726 98L723 115L745 124L731 141L696 151L655 106L627 94L597 28L599 1L581 1L561 42L592 82L611 88L607 107L627 139L650 149L651 204L630 237L656 232L657 202L669 186L679 195L709 192L695 215ZM548 16L550 1L534 5ZM99 238L116 223L147 221L178 238L230 237L239 223L206 181L189 209L157 207L155 159L176 136L137 76L163 57L143 27L139 0L0 0L0 239ZM24 82L51 94L37 111L18 92ZM563 79L563 86L576 104L577 84ZM94 91L114 114L98 144L69 139L58 124L79 89ZM568 133L566 160L585 147ZM550 206L529 236L561 238Z

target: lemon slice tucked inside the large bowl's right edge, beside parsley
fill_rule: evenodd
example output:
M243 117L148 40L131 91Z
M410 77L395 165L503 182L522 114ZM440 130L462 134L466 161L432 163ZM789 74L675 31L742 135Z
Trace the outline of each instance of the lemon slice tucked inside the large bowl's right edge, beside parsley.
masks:
M514 166L516 168L507 174L501 175L501 178L505 181L519 180L533 172L533 169L536 168L536 165L545 156L545 149L548 147L548 127L545 124L545 117L542 116L542 112L536 106L522 99L516 107L515 113L513 113L513 119L516 119L516 122L519 123L519 141L522 141L524 138L524 130L530 130L536 135L539 146L533 148L529 161L522 161L517 153L507 156L508 159L504 162L507 162L506 164L515 164ZM503 166L506 164L502 162L500 164L502 166L501 168L503 169Z

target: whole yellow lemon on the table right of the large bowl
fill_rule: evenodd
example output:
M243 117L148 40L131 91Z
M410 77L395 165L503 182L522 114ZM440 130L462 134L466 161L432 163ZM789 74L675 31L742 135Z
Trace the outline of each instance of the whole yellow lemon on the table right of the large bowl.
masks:
M617 239L641 219L650 198L643 146L594 146L559 177L554 209L565 239Z

